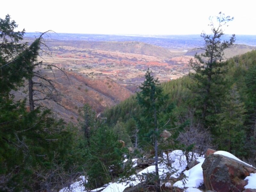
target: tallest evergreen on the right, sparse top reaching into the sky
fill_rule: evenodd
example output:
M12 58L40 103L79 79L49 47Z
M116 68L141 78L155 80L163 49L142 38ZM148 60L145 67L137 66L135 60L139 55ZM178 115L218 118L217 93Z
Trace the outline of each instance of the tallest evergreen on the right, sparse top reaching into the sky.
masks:
M234 18L225 16L220 12L216 19L217 23L210 17L209 26L212 34L208 35L205 32L201 34L205 43L204 47L201 48L204 53L196 54L195 60L190 60L190 66L195 72L191 72L189 76L196 82L191 89L196 93L195 102L204 123L207 121L207 116L220 112L220 101L223 93L225 93L224 66L227 65L226 62L222 62L223 51L235 42L235 35L232 35L229 40L223 40L223 27ZM208 127L209 124L206 123L204 126Z

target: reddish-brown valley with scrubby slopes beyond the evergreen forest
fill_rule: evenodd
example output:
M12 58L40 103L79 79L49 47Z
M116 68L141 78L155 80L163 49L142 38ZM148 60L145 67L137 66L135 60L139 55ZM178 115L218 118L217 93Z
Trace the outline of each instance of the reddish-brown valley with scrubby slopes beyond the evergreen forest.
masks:
M32 38L24 40L31 42ZM50 104L54 114L66 122L77 123L85 103L100 113L139 91L148 68L160 83L188 74L189 60L200 52L195 49L200 42L193 44L195 42L183 46L175 43L157 46L137 41L46 39L49 49L44 49L47 54L42 52L39 61L57 66L67 76L57 68L53 71L40 68L41 73L55 82L58 90L59 104L44 101L43 105ZM226 50L225 55L230 58L254 48L236 44ZM25 93L19 91L18 95L21 98Z

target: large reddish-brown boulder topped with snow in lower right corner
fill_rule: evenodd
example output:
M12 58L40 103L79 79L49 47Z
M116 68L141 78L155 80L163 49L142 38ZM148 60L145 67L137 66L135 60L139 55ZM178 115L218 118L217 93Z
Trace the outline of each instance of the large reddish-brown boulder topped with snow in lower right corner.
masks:
M247 185L244 178L256 172L252 166L219 154L207 156L202 169L205 188L218 192L243 191Z

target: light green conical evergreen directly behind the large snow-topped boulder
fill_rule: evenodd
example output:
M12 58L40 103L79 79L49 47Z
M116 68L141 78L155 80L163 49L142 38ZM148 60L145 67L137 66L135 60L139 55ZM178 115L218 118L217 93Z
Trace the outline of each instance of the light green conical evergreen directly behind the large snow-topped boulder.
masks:
M236 156L245 156L244 120L246 110L244 103L240 100L236 84L231 87L222 111L218 114L220 121L216 137L219 149Z

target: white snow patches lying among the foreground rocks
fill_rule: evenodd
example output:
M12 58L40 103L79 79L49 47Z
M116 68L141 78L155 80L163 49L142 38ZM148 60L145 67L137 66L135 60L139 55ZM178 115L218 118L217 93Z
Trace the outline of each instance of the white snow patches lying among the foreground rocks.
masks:
M226 151L217 151L214 154L220 154L223 156L227 156L230 158L233 158L237 161L240 161L244 164L247 164L240 159L238 159L236 156L226 152ZM174 150L171 153L168 154L169 161L172 164L172 167L167 166L167 155L163 154L163 162L159 164L159 175L160 177L166 177L167 174L171 174L171 177L178 178L180 176L180 173L185 170L187 166L187 161L184 153L181 150ZM137 164L137 159L132 159L132 162L134 164ZM185 179L177 181L173 184L173 186L186 189L184 192L200 192L199 189L197 189L199 186L202 186L204 184L203 179L203 170L202 170L202 164L204 162L204 157L196 157L196 160L200 162L196 166L192 167L190 170L184 171L184 174L186 176ZM249 165L249 164L247 164ZM134 165L136 166L136 165ZM133 166L133 167L134 167ZM252 165L249 165L252 166ZM141 181L144 180L142 177L143 173L150 173L155 171L155 166L149 166L146 169L140 171L136 175L132 175L131 178L133 180L128 180L127 182L122 183L110 183L106 188L103 189L102 192L123 192L125 188L129 186L134 186L139 184ZM245 186L245 188L256 188L256 173L251 173L250 176L246 177L244 180L248 180L248 185ZM85 182L84 177L80 177L80 180L78 182L73 183L70 188L72 188L72 192L83 192ZM171 183L165 183L166 187L172 186ZM98 190L101 190L102 188L94 189L92 191L96 192ZM68 191L67 188L60 190L60 192Z

